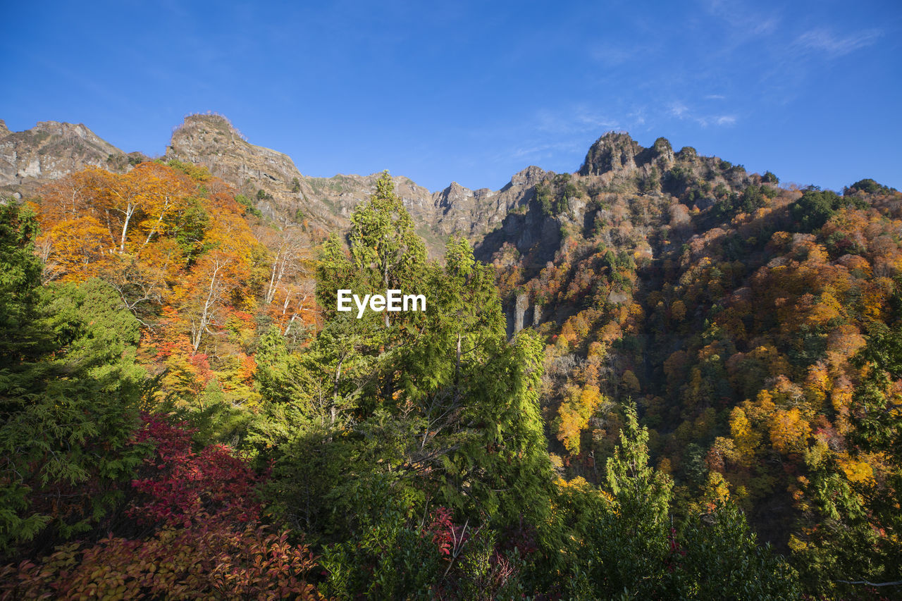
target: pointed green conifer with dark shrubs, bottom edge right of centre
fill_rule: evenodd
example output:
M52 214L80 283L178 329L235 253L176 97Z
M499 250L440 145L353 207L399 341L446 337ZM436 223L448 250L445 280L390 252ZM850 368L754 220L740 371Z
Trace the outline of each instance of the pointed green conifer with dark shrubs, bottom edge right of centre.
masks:
M669 477L649 467L649 431L624 408L621 444L607 462L610 493L582 478L561 481L554 519L539 529L545 558L533 574L554 574L540 590L561 587L575 599L792 599L794 570L759 547L742 513L721 504L671 525Z

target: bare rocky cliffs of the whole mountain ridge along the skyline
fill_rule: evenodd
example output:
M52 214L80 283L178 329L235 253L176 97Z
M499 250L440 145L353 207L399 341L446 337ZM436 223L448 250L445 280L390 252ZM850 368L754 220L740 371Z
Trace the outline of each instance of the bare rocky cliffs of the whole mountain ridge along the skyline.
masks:
M0 190L7 194L32 193L42 181L88 165L127 171L145 158L124 153L85 125L45 121L12 133L0 121ZM305 176L287 154L249 143L217 115L186 117L164 158L206 165L253 199L264 217L281 224L307 221L320 231L348 227L354 207L373 194L379 177ZM663 211L677 199L705 210L718 201L716 187L732 192L760 178L689 147L675 153L664 138L644 148L629 134L612 132L592 145L577 172L529 166L501 190L469 190L452 182L432 192L403 176L393 180L433 256L443 252L448 236L465 236L483 260L512 246L544 264L557 252L562 231L597 227L598 219L610 217L610 209L600 207L615 200L611 195L627 210L639 198L651 200L639 203L643 211Z

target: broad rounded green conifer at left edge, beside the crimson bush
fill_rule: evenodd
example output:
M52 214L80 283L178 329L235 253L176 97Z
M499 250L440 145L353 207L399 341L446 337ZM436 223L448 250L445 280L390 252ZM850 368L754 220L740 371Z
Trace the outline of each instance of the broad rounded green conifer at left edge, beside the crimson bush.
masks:
M52 540L97 525L141 459L130 444L146 384L137 319L97 280L40 292L28 326L46 345L0 367L4 550L48 526Z

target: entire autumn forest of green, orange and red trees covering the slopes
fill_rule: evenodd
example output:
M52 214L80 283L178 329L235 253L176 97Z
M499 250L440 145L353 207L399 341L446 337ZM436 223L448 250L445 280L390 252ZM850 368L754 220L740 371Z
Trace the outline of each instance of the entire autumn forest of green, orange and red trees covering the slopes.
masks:
M0 595L897 596L902 194L624 136L439 260L387 173L325 240L171 158L8 199Z

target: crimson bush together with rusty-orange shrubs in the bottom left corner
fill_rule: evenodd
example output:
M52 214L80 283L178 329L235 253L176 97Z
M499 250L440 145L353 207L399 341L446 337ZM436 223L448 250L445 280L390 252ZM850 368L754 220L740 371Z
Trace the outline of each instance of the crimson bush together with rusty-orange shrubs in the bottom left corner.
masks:
M224 445L191 449L192 430L143 416L136 443L155 445L143 500L129 513L161 523L138 540L112 534L74 542L50 556L0 568L6 598L320 599L308 579L321 570L305 545L259 526L257 476Z

